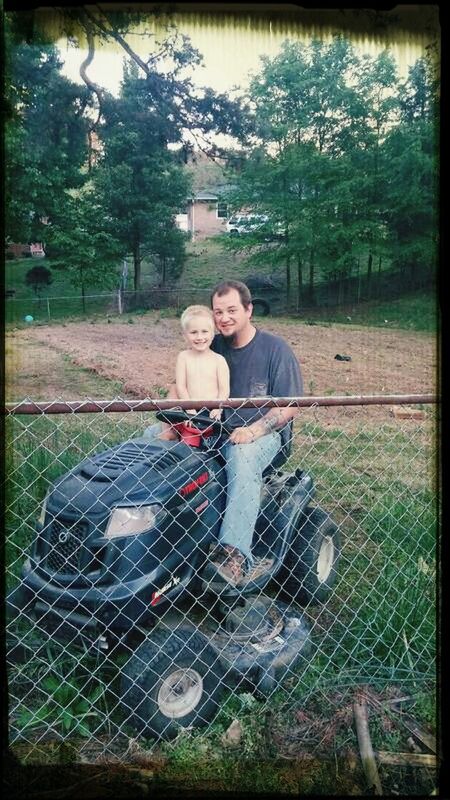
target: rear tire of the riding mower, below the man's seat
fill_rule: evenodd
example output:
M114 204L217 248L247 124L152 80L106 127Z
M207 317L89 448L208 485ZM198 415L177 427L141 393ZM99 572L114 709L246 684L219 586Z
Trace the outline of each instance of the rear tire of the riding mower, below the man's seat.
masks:
M307 507L277 580L297 602L323 603L336 581L339 557L337 525L321 508Z

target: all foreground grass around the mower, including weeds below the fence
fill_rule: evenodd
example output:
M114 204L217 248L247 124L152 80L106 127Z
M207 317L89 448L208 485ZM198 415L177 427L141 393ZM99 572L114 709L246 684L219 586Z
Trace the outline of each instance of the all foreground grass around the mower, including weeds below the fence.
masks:
M136 435L150 422L150 415L134 413L7 420L8 587L17 582L34 536L34 521L51 481L84 456ZM361 426L351 434L338 426L321 424L320 410L310 419L305 413L302 423L296 424L295 447L287 469L301 465L314 476L317 502L341 524L343 552L330 600L323 607L304 610L312 627L315 652L306 665L296 668L286 688L270 698L269 708L287 736L289 714L307 708L316 698L316 717L324 713L323 698L329 697L333 719L338 709L333 700L337 690L353 691L360 683L380 689L396 685L421 698L415 705L416 718L433 728L435 715L428 688L434 679L436 623L432 415L420 425L383 425L376 430ZM25 642L27 635L24 632ZM30 713L22 723L29 725L26 737L30 742L34 735L40 735L35 727L39 696L30 686L43 685L52 660L41 656L38 671L36 662L37 658L32 659L10 682L13 692L25 686ZM95 674L101 682L101 672ZM86 719L97 735L98 718L85 718L84 714L93 712L76 699L82 679L75 668L70 671L72 689L68 688L66 698L70 718L65 718L65 723L59 716L57 689L55 696L49 697L44 710L51 712L48 719L52 729L66 724L72 735ZM103 713L102 719L105 702L115 707L116 695L110 686L106 697L91 694L97 706L100 703L100 709L96 706L94 710ZM287 762L286 769L274 766L273 742L268 744L265 735L266 709L253 696L232 693L205 732L181 734L175 743L167 745L169 761L161 784L185 782L191 775L189 780L196 789L226 787L295 794L300 789L303 793L324 793L329 785L333 793L334 773L328 766L322 764L321 771L319 762L313 760L315 777L293 774L292 762ZM221 744L221 736L233 719L239 719L243 729L237 751ZM106 727L104 730L107 732ZM333 744L337 752L356 747L351 729L344 727L339 736ZM398 736L383 726L375 727L374 737L379 749L399 747ZM313 751L314 746L312 743ZM406 745L403 743L400 749L406 749Z

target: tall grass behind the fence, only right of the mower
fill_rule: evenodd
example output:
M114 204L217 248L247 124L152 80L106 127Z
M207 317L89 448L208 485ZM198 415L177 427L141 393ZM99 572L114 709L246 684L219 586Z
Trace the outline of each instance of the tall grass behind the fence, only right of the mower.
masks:
M345 663L338 655L333 678L432 677L438 510L432 438L391 425L348 435L306 422L295 441L289 467L300 463L314 476L320 505L341 524L339 578L321 643L331 661L346 654Z

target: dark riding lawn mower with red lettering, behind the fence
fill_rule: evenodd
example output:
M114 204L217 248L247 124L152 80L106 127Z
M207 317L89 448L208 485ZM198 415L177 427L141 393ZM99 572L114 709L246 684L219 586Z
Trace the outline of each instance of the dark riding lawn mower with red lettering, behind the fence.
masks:
M8 609L52 639L106 659L125 653L124 722L170 738L211 721L227 691L269 696L307 664L299 606L327 599L340 545L312 504L312 478L275 461L252 544L269 566L243 585L218 579L209 556L226 503L219 443L230 431L207 412L156 416L181 438L129 439L53 483Z

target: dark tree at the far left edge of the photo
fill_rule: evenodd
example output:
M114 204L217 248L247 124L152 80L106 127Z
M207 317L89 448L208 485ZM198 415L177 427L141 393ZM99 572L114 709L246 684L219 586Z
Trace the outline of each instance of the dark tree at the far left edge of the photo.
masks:
M44 221L84 180L89 97L61 75L53 45L17 40L6 28L5 233L42 241Z

